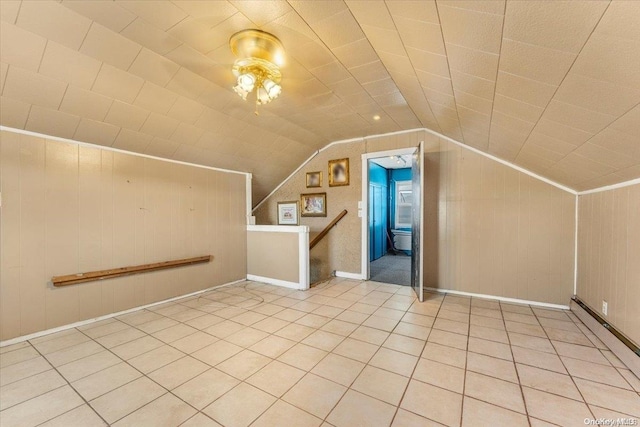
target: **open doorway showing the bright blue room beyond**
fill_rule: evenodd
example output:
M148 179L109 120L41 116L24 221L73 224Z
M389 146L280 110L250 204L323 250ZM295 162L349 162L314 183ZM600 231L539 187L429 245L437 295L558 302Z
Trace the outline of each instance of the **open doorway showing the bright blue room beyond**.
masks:
M419 251L422 171L419 149L401 149L362 156L362 272L366 279L414 286L422 291ZM417 177L414 174L417 173ZM416 205L416 203L418 203ZM416 218L414 218L416 217ZM414 219L417 221L414 223ZM416 245L417 243L417 245ZM413 262L412 262L413 260Z

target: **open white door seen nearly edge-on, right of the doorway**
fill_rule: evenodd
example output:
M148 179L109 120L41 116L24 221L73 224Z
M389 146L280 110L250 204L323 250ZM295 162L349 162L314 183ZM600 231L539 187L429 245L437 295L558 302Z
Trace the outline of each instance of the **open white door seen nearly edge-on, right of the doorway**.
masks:
M424 300L423 295L423 242L422 222L424 218L424 210L422 209L422 201L424 200L424 144L420 141L420 145L413 153L411 162L411 191L413 193L413 203L411 206L411 287L416 292L420 302Z

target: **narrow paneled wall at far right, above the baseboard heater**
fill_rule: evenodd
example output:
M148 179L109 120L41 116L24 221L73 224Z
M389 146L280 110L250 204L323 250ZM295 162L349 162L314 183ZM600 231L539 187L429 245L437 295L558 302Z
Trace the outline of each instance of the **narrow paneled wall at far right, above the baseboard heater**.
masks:
M579 196L578 297L640 343L640 184Z

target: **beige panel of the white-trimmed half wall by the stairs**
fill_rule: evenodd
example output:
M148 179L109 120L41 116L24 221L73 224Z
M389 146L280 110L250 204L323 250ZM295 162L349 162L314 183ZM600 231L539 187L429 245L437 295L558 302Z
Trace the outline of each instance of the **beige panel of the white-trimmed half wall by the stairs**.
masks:
M247 233L247 274L298 283L298 233Z

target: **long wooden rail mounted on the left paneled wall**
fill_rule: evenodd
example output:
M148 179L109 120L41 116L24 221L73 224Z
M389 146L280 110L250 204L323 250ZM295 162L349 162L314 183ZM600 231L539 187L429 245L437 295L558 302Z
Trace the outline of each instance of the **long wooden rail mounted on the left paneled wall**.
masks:
M134 265L131 267L111 268L109 270L89 271L86 273L54 276L51 278L53 286L67 286L94 280L112 279L114 277L129 276L131 274L146 273L148 271L164 270L165 268L182 267L185 265L209 262L213 256L204 255L194 258L174 259L171 261L154 262L152 264Z

